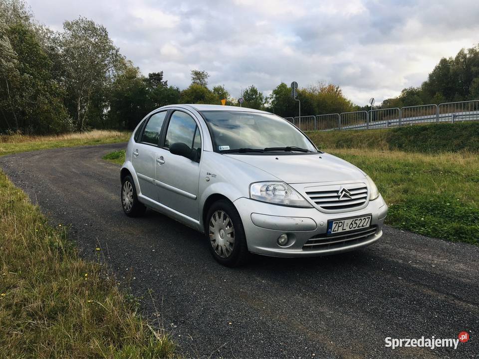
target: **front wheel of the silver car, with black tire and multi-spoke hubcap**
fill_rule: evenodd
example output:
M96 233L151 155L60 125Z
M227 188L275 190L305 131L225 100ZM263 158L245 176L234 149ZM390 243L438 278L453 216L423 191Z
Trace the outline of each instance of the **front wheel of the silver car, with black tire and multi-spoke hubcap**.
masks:
M249 252L243 223L229 200L213 203L206 216L205 232L210 252L219 263L238 267L247 262Z

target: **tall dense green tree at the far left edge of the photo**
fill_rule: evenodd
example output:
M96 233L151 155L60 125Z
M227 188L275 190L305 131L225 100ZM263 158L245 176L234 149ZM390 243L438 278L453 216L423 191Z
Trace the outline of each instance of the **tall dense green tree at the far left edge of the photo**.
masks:
M52 61L41 26L22 2L0 3L0 128L24 133L69 130L63 91L52 78Z

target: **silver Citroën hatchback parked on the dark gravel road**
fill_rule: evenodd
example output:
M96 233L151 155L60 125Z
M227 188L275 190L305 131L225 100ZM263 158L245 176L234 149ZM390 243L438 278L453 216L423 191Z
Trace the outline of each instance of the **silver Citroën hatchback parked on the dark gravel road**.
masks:
M249 253L308 257L382 235L388 206L363 171L268 112L169 105L148 114L121 167L128 216L152 208L206 234L227 266Z

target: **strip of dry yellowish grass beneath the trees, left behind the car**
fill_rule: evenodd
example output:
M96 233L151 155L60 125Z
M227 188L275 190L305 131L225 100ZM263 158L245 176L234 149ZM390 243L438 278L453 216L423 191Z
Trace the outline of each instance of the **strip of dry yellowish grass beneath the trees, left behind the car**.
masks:
M98 145L127 142L131 133L107 130L71 133L58 136L0 136L0 156L16 152L45 150L58 147Z

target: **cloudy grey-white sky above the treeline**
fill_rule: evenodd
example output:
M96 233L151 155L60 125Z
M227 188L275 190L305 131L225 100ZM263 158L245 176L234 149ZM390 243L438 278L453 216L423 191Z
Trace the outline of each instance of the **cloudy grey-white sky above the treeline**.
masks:
M479 42L477 0L27 0L53 29L79 15L108 29L144 74L185 88L210 73L233 97L281 81L343 88L357 104L418 86L443 56Z

